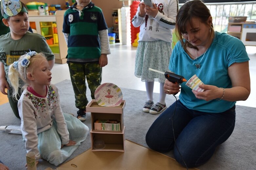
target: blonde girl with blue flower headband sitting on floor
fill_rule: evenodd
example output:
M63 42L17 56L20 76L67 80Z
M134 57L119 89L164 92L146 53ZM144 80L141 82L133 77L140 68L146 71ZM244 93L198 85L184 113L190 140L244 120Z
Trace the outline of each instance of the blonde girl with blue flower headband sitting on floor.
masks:
M18 94L19 77L26 83L18 110L27 152L35 152L36 163L43 158L59 165L86 139L89 128L62 112L58 88L50 84L51 72L44 54L32 51L22 55L9 69L13 97Z

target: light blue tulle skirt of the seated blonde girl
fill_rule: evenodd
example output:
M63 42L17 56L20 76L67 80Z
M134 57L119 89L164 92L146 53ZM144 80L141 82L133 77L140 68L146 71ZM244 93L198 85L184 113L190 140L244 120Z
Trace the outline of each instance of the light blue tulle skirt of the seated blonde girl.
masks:
M57 166L64 162L83 142L89 128L76 117L63 113L69 131L69 140L76 141L75 146L64 146L61 148L60 136L57 132L57 124L53 125L47 131L38 134L38 149L43 159Z

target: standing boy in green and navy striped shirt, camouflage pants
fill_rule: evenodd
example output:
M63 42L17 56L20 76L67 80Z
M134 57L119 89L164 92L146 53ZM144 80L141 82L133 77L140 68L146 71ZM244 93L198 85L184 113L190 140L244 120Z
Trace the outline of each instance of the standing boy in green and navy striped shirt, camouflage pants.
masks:
M110 54L108 27L102 10L90 0L76 0L64 14L63 30L68 44L67 63L73 90L77 118L86 120L86 83L94 98L101 84L102 67L108 64Z

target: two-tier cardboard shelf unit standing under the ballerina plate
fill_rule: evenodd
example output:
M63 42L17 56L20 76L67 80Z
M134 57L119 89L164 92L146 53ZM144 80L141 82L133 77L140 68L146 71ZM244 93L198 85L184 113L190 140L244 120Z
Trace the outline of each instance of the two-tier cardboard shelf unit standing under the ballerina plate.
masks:
M106 107L100 106L96 100L91 100L86 106L86 111L91 112L91 151L125 151L125 126L124 126L124 108L126 102L122 101L120 106ZM113 119L121 122L121 131L94 130L94 122L97 119ZM105 142L103 149L95 149L94 141L102 139Z

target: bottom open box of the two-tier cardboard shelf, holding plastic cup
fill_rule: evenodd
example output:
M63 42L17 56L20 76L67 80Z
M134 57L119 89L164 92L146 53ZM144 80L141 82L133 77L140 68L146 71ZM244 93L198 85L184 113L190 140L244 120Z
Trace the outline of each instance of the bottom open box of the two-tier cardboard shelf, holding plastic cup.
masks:
M90 131L91 135L91 151L125 151L125 127L120 133L115 132L103 132L103 131ZM103 149L95 149L94 141L97 139L102 139L105 143Z

